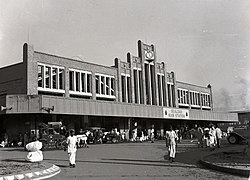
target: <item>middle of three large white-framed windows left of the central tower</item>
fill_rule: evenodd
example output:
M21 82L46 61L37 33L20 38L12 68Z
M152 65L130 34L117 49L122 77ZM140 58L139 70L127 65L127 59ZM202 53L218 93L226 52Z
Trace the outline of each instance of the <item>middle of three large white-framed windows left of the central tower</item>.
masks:
M92 96L91 72L70 69L69 70L69 93L79 96Z

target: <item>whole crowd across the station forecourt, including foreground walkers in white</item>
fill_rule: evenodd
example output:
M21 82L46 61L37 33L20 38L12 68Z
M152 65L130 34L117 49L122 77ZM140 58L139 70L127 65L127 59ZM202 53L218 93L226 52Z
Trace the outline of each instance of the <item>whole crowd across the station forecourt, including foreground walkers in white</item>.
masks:
M90 140L97 143L103 143L104 138L109 135L112 138L117 138L119 141L131 141L131 142L152 142L155 140L155 129L152 127L148 130L142 130L135 127L131 131L122 131L119 132L117 128L112 129L110 132L104 132L102 129L96 129L93 131L80 130L79 135L75 135L74 130L70 130L65 141L65 150L67 149L69 155L69 164L70 167L75 167L75 157L78 147L84 145L88 147ZM8 144L8 134L4 134L4 140L1 142L2 147ZM181 143L182 139L190 139L192 142L193 139L197 139L198 148L207 147L211 151L214 151L215 148L221 147L221 139L223 133L219 127L216 127L213 124L210 124L208 127L201 127L195 125L193 128L188 129L187 127L173 129L172 126L166 131L165 139L167 146L167 153L169 155L170 162L174 162L176 156L176 147L177 143ZM43 160L43 154L41 152L42 143L37 140L36 137L32 138L32 141L29 141L29 136L27 133L24 136L20 135L20 142L22 146L28 151L26 157L27 161L37 162Z

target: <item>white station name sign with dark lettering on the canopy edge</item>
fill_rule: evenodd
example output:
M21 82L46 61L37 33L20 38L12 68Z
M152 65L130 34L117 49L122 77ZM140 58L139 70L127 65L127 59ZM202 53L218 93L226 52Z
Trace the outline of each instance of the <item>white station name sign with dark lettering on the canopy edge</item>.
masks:
M163 117L167 119L189 119L189 110L163 108Z

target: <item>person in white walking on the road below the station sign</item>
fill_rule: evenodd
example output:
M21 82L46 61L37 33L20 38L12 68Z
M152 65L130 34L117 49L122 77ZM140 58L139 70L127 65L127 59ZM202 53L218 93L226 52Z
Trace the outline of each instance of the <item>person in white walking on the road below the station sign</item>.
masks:
M174 162L175 154L176 154L176 140L177 140L177 135L175 131L173 130L172 126L170 126L170 131L168 132L168 141L169 141L169 160L170 162Z

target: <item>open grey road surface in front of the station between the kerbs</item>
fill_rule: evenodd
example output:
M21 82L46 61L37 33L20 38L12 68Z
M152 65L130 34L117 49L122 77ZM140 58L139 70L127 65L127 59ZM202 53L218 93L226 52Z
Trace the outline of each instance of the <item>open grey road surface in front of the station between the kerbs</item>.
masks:
M61 173L51 178L56 180L247 179L201 167L197 161L209 149L198 149L196 142L185 140L177 151L176 161L170 163L165 141L97 144L78 149L76 168L69 167L63 150L45 151L44 160L61 168Z

